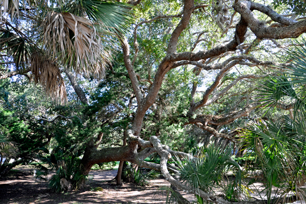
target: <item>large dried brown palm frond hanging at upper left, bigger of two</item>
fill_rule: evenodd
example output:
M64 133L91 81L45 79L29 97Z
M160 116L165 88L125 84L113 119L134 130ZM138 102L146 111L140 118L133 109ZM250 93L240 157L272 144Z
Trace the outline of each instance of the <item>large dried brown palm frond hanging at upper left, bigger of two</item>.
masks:
M53 58L61 57L77 74L101 78L111 54L94 23L71 13L49 12L43 24L43 43ZM105 37L105 36L104 36Z

